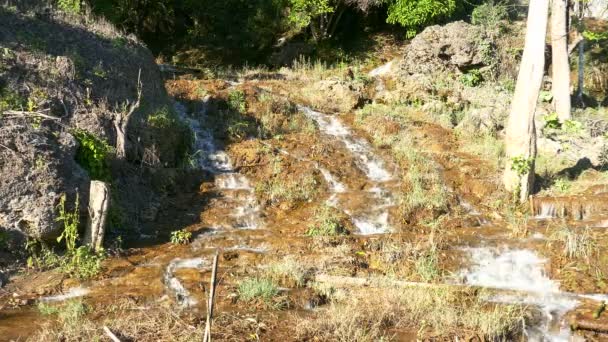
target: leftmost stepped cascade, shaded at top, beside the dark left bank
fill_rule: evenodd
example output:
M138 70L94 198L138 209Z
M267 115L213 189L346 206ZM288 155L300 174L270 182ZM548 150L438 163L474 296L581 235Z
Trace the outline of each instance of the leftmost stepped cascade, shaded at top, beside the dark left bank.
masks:
M207 101L208 99L205 100L205 102ZM247 177L234 171L228 154L215 143L211 130L201 124L205 121L206 110L199 113L196 118L189 116L186 108L179 102L175 104L175 110L194 133L194 167L213 173L215 185L219 190L236 190L247 193L245 196L225 193L226 197L232 198L235 202L234 212L230 215L234 219L232 228L258 228L261 209L257 204L254 189L249 184Z

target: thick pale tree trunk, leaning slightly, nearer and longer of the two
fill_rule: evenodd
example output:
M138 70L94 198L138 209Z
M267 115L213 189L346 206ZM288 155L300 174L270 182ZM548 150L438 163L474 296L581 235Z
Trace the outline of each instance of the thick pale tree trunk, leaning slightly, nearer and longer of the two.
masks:
M534 113L543 81L548 16L549 0L530 0L526 43L505 137L507 163L503 182L508 191L519 192L519 199L522 202L528 199L534 185L536 158ZM516 160L528 162L529 167L514 167L513 162Z

